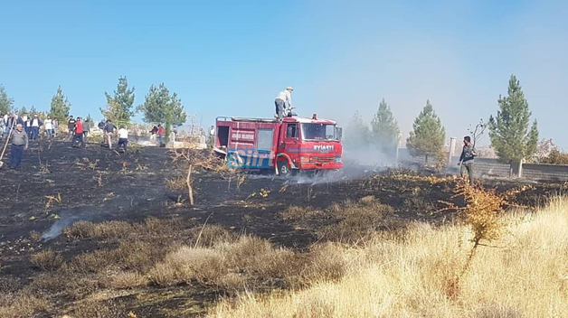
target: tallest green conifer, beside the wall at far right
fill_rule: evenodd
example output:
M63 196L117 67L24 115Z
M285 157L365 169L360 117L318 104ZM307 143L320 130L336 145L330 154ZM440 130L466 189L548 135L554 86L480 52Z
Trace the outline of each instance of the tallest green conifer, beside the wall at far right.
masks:
M515 75L509 79L508 95L497 99L497 117L489 118L489 138L499 159L508 164L520 163L536 153L536 120L529 129L531 112Z

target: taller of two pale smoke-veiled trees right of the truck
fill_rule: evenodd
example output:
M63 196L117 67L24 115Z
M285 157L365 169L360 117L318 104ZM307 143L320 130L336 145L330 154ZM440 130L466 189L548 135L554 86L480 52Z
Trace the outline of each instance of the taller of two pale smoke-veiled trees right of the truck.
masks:
M374 114L371 122L373 129L373 144L376 145L383 154L395 154L398 146L401 129L393 117L393 112L389 105L383 100L379 104L379 109Z

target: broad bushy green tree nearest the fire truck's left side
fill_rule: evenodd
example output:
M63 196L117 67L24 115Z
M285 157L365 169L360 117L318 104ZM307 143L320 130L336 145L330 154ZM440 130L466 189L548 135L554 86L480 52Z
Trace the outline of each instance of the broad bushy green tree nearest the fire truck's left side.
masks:
M164 123L166 136L172 126L181 126L187 119L182 100L176 93L170 94L164 83L159 87L152 85L146 95L144 104L137 107L144 115L145 123Z

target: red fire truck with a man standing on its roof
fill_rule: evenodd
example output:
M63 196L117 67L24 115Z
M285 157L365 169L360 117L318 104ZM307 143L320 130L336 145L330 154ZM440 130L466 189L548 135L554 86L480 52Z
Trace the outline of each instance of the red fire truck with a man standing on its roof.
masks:
M343 168L342 129L335 121L289 115L270 118L217 117L213 151L230 167L300 170Z

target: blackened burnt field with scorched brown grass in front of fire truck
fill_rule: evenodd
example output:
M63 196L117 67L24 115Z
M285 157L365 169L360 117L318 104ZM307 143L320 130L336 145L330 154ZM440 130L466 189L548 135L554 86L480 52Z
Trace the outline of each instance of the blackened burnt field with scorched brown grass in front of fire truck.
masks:
M417 221L465 221L475 251L502 229L498 198L536 206L555 189L516 191L510 182L485 184L494 192L469 189L453 176L400 169L274 178L231 171L190 150L118 155L90 146L77 155L54 144L43 151L52 173L19 188L7 174L13 181L0 185L12 193L0 200L3 224L14 228L0 246L2 317L200 316L220 297L341 280L354 266L345 251L404 239ZM70 178L85 184L65 192ZM450 298L459 294L457 273L444 283Z

